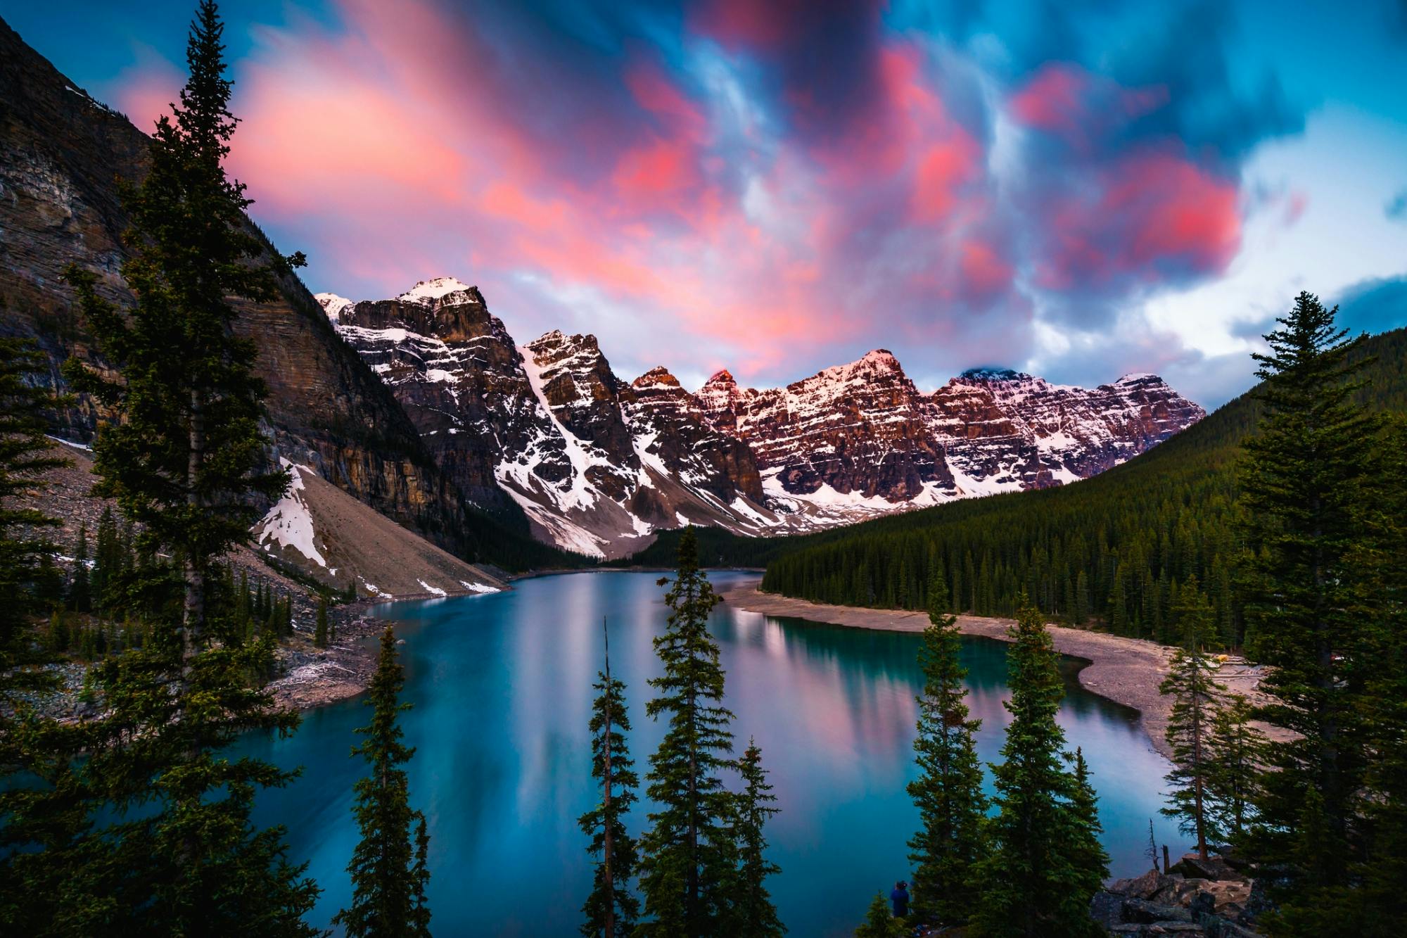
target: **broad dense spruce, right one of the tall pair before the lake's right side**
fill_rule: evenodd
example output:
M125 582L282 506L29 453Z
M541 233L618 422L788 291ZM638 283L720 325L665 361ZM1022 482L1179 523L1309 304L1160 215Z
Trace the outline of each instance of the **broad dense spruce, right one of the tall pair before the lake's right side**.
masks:
M1012 714L1002 762L992 766L998 814L989 852L976 865L982 901L969 932L983 938L1086 938L1100 934L1089 917L1099 892L1097 818L1065 769L1065 734L1055 723L1065 689L1055 648L1040 611L1021 596L1007 632Z

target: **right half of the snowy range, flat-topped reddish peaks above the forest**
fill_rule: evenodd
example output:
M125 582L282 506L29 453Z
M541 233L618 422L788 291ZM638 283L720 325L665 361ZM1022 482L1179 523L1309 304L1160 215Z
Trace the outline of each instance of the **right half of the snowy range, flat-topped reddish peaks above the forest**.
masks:
M884 349L784 389L723 370L698 397L753 448L774 506L826 515L1075 482L1204 415L1152 375L1086 390L974 369L924 394Z

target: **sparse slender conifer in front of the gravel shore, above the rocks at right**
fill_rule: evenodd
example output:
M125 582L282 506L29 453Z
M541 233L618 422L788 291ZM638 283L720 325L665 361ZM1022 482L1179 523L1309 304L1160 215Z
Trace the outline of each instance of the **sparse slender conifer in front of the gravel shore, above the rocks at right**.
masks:
M1162 813L1178 818L1179 830L1196 838L1197 856L1206 859L1207 841L1223 838L1206 789L1214 762L1209 737L1224 687L1216 682L1216 665L1206 649L1216 639L1216 621L1197 577L1188 580L1175 611L1182 623L1182 645L1158 687L1173 700L1165 731L1173 769L1168 773L1171 790Z

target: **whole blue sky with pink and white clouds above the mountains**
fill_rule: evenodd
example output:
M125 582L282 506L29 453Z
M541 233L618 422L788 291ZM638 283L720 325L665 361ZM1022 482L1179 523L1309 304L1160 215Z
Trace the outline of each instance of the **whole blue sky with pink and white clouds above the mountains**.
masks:
M145 128L156 6L3 13ZM891 348L1216 406L1300 289L1403 323L1401 3L227 7L231 165L314 290L459 276L623 373Z

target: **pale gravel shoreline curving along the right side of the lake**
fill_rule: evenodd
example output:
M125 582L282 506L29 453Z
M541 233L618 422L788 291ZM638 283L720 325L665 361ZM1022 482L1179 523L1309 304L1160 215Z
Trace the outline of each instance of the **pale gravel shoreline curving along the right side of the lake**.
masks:
M929 617L924 613L809 603L775 593L763 593L756 583L734 586L722 596L725 603L740 610L850 628L922 632L929 624ZM958 628L964 635L981 635L998 641L1010 641L1006 630L1012 623L1010 618L958 615ZM1048 628L1055 651L1089 662L1079 672L1081 686L1100 697L1137 710L1138 724L1152 748L1164 758L1171 759L1172 752L1164 735L1172 714L1172 700L1158 693L1158 684L1168 675L1172 649L1141 638L1124 638L1064 625L1050 625ZM1247 694L1252 700L1259 696L1256 692L1261 680L1259 669L1240 659L1230 659L1223 665L1217 680L1225 684L1228 692Z

